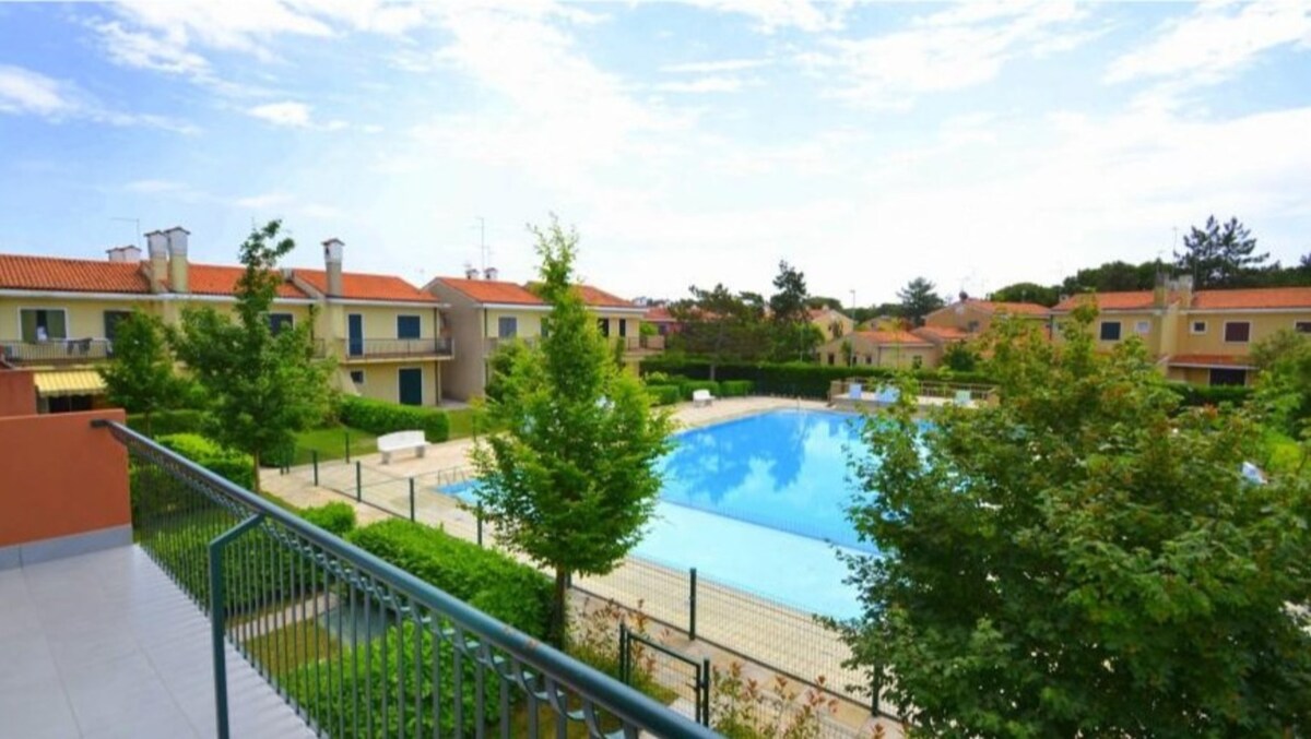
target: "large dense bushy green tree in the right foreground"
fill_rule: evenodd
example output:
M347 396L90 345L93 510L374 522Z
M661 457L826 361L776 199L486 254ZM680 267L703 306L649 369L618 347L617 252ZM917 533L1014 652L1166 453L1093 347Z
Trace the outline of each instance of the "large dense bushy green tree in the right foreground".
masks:
M1311 481L1244 480L1260 426L1181 410L1095 314L1061 345L1000 322L995 405L919 432L906 380L865 426L853 662L928 735L1304 735Z

